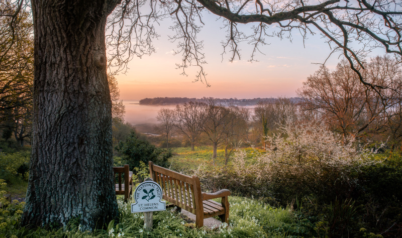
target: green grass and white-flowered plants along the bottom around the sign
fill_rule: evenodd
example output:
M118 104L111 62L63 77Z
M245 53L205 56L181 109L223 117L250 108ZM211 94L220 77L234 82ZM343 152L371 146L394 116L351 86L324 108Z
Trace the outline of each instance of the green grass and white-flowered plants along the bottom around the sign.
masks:
M210 229L206 226L195 228L184 217L169 209L153 213L152 230L146 230L143 213L131 213L131 203L119 196L120 215L118 219L105 224L104 229L82 231L77 221L70 221L57 229L19 227L24 203L17 201L0 209L0 237L291 237L307 235L299 230L306 228L298 222L290 208L274 208L260 201L244 197L229 197L230 216L227 223ZM13 211L15 210L15 211ZM8 219L5 214L12 214ZM119 222L117 222L119 220Z

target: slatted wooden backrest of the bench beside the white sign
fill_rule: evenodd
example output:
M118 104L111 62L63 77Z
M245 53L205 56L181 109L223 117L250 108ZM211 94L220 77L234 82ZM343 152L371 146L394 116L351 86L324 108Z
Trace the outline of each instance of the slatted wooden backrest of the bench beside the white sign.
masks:
M149 161L149 172L162 188L162 198L186 210L203 207L201 186L197 176L187 176L154 165Z

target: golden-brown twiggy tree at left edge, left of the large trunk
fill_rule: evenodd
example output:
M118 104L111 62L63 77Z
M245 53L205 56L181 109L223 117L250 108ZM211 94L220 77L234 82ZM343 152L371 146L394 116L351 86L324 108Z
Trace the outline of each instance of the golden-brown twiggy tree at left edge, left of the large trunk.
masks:
M0 1L0 128L20 145L30 141L33 90L33 27L23 2Z

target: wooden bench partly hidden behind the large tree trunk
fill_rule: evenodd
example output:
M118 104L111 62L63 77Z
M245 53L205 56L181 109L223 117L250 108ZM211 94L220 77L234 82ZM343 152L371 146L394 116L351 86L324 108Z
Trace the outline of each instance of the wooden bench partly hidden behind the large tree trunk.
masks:
M115 182L116 180L118 182L115 184L116 195L124 195L124 200L127 201L133 193L133 172L130 171L129 165L113 167L113 172L115 173Z

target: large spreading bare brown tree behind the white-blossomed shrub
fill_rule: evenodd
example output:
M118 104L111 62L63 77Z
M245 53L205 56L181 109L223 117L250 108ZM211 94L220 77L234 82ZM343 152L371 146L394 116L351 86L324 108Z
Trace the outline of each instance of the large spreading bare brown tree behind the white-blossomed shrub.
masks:
M402 80L400 70L394 60L376 57L362 75L382 88L374 90L361 84L345 60L333 72L322 67L297 90L303 99L302 108L318 111L321 120L344 140L348 136L359 137L363 132L384 132L386 118L391 116L389 109L402 100L397 89Z

